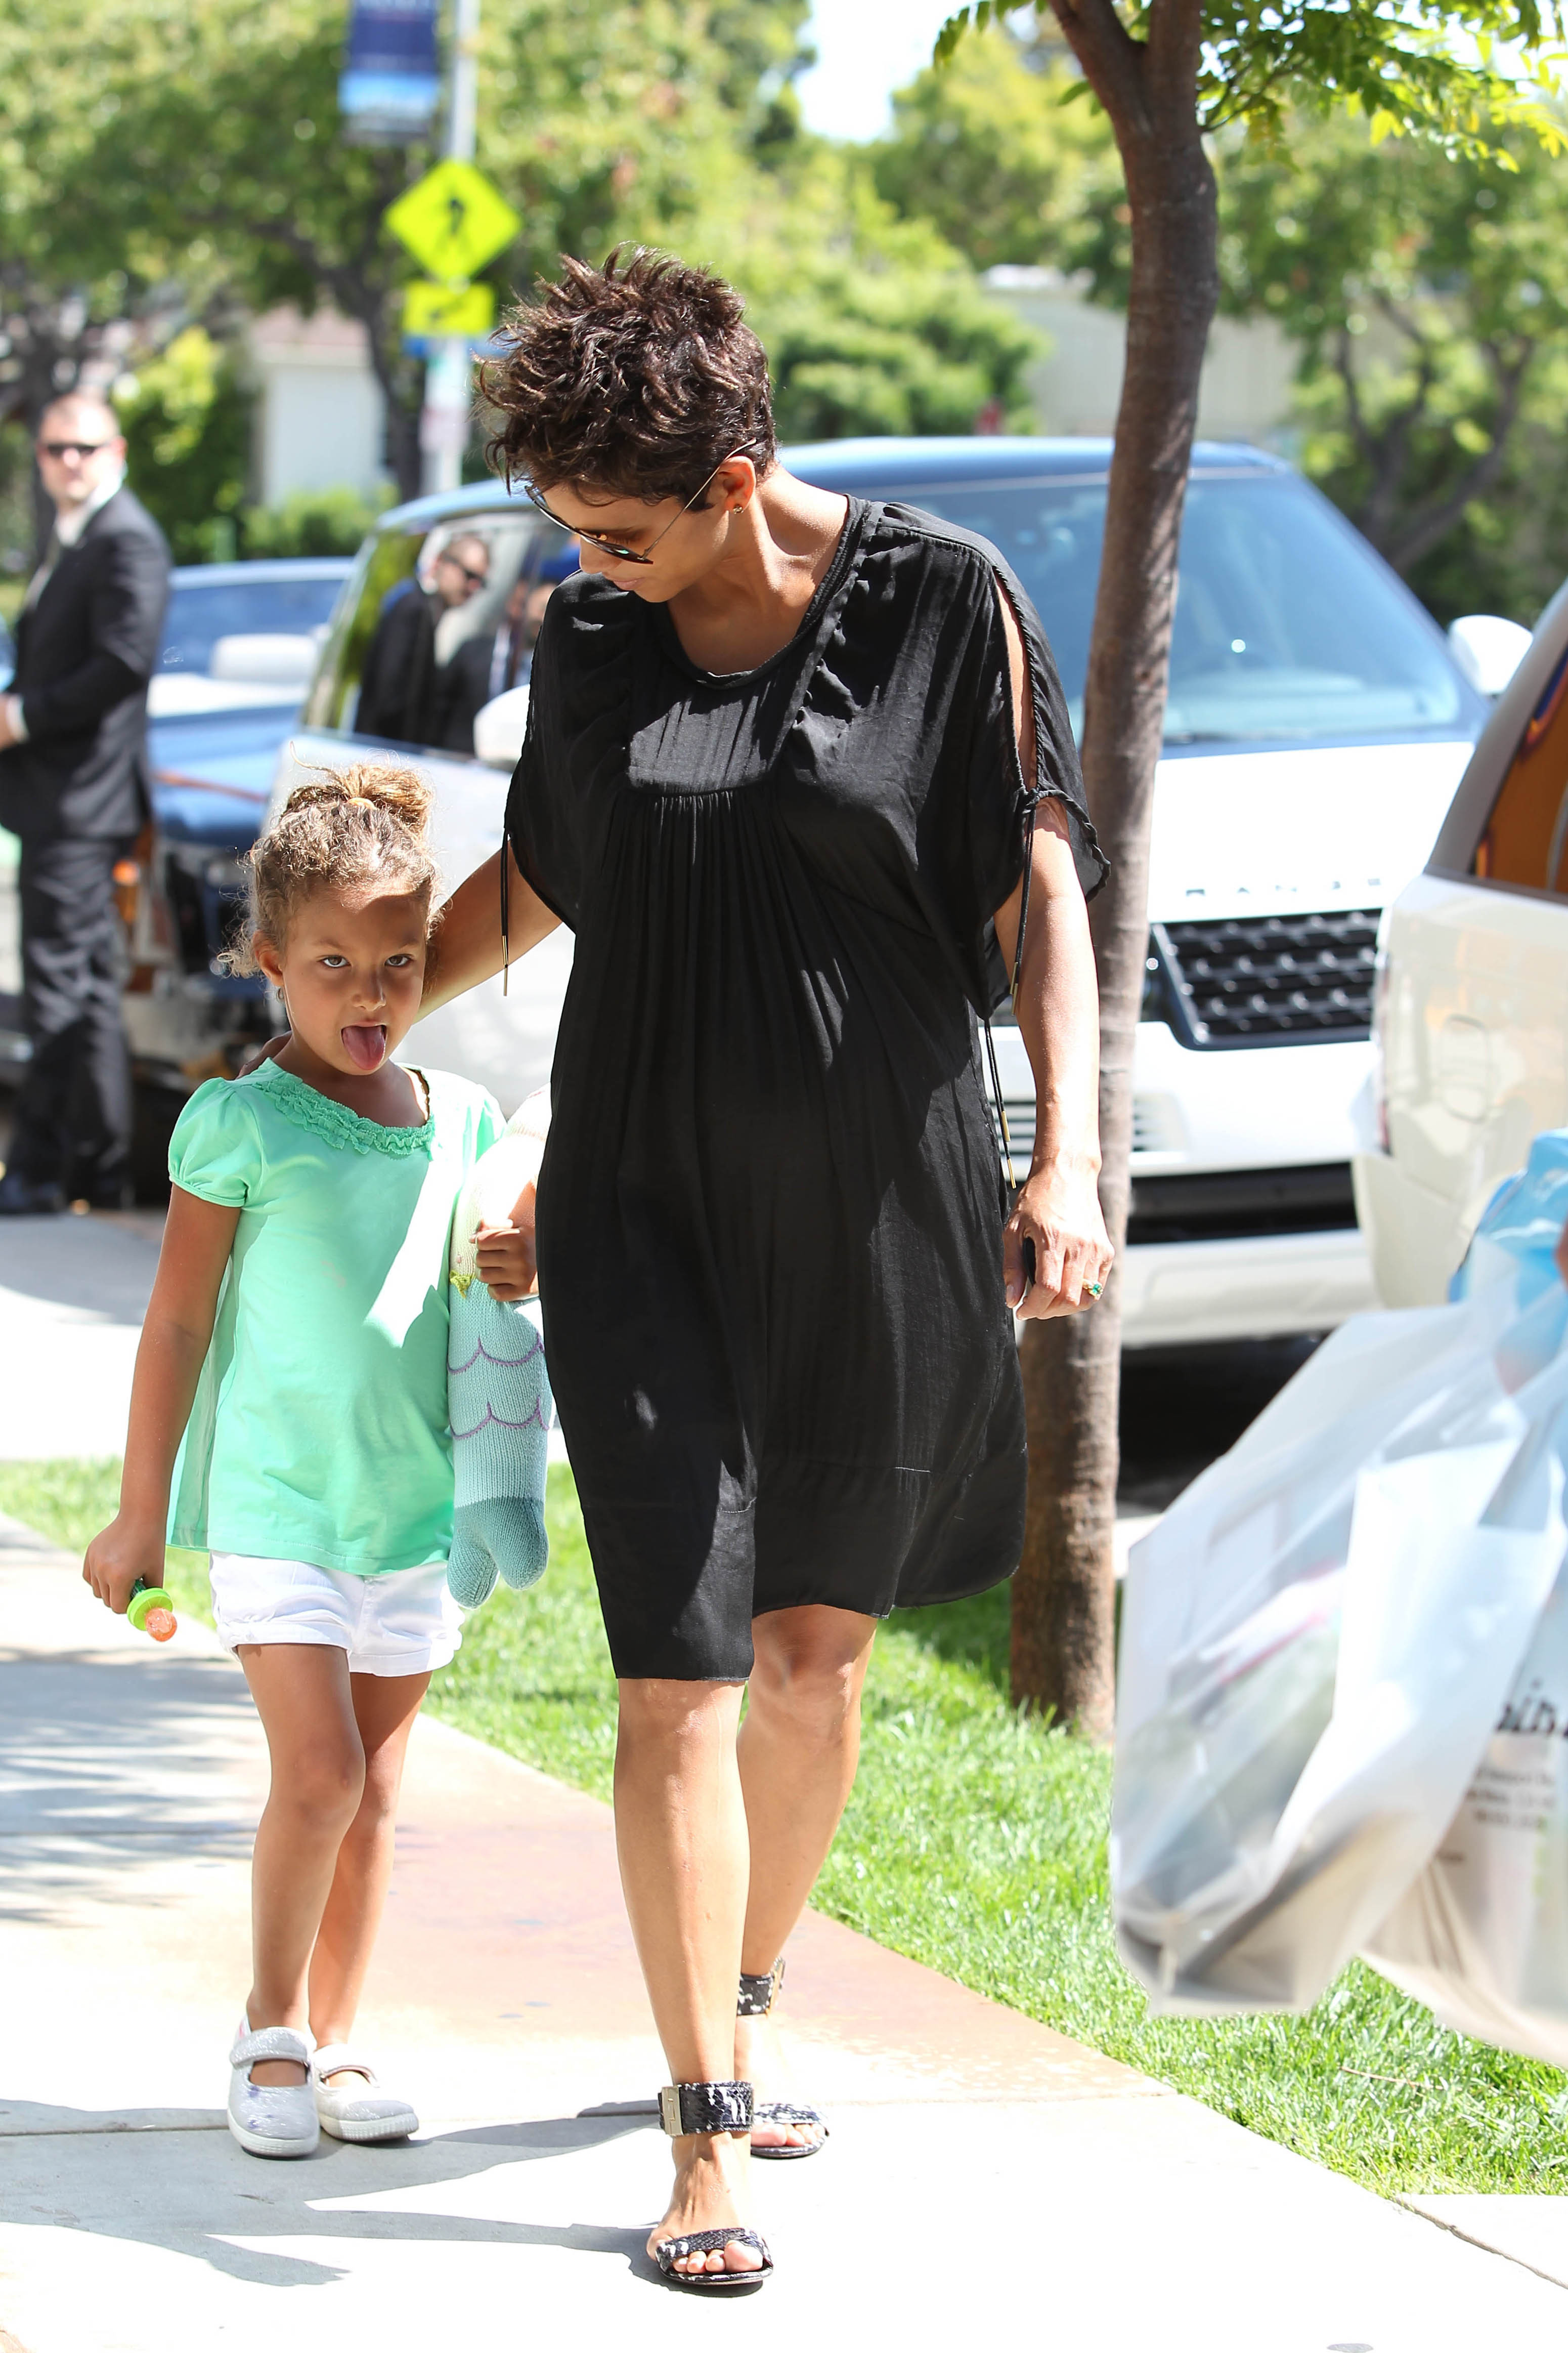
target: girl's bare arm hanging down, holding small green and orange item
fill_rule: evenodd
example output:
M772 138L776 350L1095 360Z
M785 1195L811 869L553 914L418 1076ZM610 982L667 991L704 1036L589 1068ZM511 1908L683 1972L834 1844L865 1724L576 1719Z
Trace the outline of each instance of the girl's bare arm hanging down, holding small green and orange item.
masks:
M136 1348L120 1511L103 1534L92 1539L82 1565L92 1591L118 1614L125 1614L139 1577L150 1586L162 1584L169 1478L212 1341L237 1224L237 1209L197 1200L195 1193L174 1186L158 1280Z

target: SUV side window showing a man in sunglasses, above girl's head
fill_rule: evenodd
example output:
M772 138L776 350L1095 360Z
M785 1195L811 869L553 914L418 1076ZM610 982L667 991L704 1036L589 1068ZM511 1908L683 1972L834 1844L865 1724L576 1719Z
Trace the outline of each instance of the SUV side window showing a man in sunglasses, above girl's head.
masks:
M529 513L444 518L383 529L362 548L306 722L473 753L473 718L517 685L508 600L552 562L562 539ZM416 600L416 602L409 602Z

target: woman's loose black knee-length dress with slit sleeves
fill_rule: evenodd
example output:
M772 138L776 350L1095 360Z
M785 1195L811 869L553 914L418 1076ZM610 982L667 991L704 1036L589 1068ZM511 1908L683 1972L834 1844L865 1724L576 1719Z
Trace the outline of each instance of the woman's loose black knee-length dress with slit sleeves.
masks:
M1098 887L1039 621L914 508L851 499L797 635L733 678L597 576L550 600L505 824L576 932L538 1282L618 1675L743 1680L755 1614L884 1617L1018 1562L976 1012L1039 793Z

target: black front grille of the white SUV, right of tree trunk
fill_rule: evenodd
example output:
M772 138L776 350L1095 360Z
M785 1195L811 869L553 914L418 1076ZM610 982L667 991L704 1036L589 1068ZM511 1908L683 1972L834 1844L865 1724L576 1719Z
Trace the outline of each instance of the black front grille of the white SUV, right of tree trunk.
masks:
M1380 908L1331 915L1241 915L1232 922L1157 922L1164 1014L1182 1045L1288 1045L1368 1038Z

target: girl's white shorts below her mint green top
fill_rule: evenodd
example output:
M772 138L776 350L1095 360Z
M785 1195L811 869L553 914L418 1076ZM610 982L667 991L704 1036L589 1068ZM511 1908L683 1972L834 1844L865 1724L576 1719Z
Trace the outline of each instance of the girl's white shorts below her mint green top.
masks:
M353 1675L428 1675L447 1666L463 1640L463 1612L440 1560L350 1577L308 1560L214 1553L212 1612L226 1649L322 1642L348 1652Z

